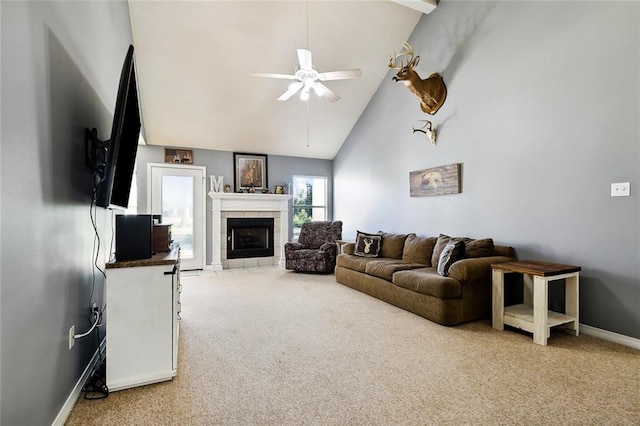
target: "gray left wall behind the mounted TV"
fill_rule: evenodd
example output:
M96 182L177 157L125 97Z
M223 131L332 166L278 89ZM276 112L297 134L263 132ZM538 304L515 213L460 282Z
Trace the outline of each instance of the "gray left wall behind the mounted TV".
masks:
M108 139L131 42L125 2L6 2L2 15L2 424L51 424L97 349L89 326L93 179L84 128ZM109 244L111 215L97 211ZM101 333L104 337L104 332Z

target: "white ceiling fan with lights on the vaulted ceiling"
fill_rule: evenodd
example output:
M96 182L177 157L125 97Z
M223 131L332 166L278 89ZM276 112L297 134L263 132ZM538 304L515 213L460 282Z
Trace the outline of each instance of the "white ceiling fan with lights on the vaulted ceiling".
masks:
M335 92L331 91L321 81L345 80L349 78L358 78L362 75L359 69L344 71L318 72L313 69L311 51L308 49L298 49L298 63L300 67L295 74L273 74L273 73L252 73L254 77L270 77L282 78L286 80L298 80L289 85L289 88L278 98L279 101L286 101L295 95L300 89L300 99L306 101L309 99L309 92L313 89L318 96L336 102L340 99Z

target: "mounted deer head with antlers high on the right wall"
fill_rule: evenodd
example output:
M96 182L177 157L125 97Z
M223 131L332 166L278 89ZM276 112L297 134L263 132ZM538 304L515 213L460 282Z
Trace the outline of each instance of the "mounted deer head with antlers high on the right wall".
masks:
M407 56L407 62L402 62L401 66L396 65L396 60L403 56ZM393 77L393 81L401 81L405 86L418 97L420 100L420 108L422 111L433 115L442 106L444 100L447 98L447 86L444 84L444 80L438 73L433 73L423 80L420 78L414 68L420 62L420 56L413 56L413 46L409 43L405 43L403 50L400 53L393 55L389 58L387 66L391 69L399 69L398 73Z

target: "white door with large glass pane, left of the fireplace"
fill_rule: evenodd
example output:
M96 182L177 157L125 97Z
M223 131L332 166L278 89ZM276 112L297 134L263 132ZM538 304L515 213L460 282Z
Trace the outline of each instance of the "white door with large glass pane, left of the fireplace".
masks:
M205 174L200 166L147 165L147 211L171 224L171 237L180 244L181 269L204 269Z

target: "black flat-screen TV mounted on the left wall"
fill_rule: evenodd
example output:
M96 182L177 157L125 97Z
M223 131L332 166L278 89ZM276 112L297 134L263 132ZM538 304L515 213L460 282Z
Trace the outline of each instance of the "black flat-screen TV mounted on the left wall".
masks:
M126 209L138 152L140 109L133 46L122 65L104 174L96 188L96 205Z

